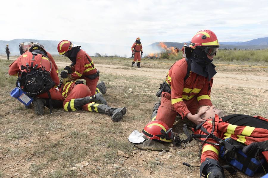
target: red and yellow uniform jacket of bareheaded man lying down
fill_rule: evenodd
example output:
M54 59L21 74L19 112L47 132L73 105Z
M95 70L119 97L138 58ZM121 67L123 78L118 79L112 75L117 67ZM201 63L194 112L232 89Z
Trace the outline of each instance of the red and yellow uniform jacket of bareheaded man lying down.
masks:
M260 116L258 116L258 118L268 121ZM210 133L212 130L212 119L206 121L202 126ZM207 135L201 130L197 130L196 134ZM249 145L253 142L263 142L268 140L267 129L232 125L227 122L223 122L222 119L219 119L219 116L217 115L215 115L215 131L213 134L221 139L232 138L246 145ZM209 138L207 142L216 143L215 140L211 138ZM262 152L262 154L268 162L268 151ZM218 160L219 146L206 143L202 150L201 163L204 162L206 158Z

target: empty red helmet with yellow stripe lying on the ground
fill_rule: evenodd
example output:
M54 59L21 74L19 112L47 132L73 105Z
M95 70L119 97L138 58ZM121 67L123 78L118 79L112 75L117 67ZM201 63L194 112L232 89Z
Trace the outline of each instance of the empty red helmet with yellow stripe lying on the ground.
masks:
M154 120L149 122L142 133L149 139L157 139L163 142L172 142L174 134L172 128L169 128L165 123L160 120Z

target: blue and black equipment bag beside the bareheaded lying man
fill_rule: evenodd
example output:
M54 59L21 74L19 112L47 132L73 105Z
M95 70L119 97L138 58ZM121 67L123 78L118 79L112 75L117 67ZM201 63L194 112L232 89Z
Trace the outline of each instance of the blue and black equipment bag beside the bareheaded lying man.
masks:
M244 172L248 176L253 176L255 172L262 170L262 165L266 162L264 158L256 159L245 155L242 149L245 145L234 139L227 138L226 142L232 144L236 149L229 151L224 146L220 147L219 157L226 160L228 164Z

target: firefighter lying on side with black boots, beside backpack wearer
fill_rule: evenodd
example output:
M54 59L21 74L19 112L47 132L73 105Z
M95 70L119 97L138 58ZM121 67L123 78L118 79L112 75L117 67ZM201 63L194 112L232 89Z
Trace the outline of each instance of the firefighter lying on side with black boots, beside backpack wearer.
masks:
M91 94L89 88L82 81L67 81L59 85L59 91L65 98L63 108L65 111L76 111L83 109L89 112L99 112L111 116L113 122L118 122L126 114L127 108L114 108L107 105L102 93L106 93L104 82L97 85L95 95Z

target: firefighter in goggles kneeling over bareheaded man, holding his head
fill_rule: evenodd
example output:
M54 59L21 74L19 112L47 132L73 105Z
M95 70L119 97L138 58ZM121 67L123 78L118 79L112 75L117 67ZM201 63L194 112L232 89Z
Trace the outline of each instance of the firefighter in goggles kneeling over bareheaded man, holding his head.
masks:
M210 92L212 77L216 74L212 61L219 49L217 36L210 30L199 31L186 49L187 58L171 66L157 93L161 96L161 106L154 119L161 120L169 128L172 128L177 113L195 124L202 123L200 114L195 114L198 107L212 106Z

